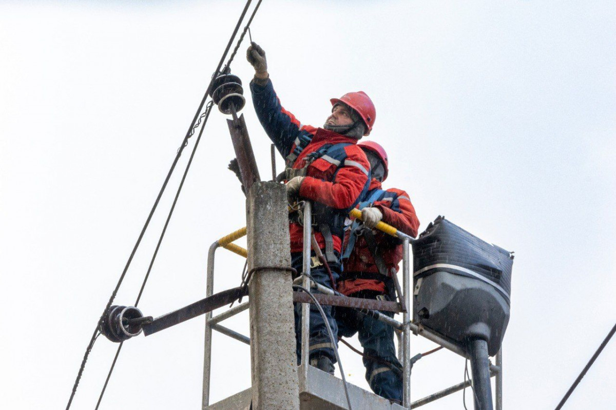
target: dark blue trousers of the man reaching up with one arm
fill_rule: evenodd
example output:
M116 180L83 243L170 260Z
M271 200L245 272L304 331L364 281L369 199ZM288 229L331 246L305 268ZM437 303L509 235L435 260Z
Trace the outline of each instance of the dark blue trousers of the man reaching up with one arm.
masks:
M312 252L314 256L314 252ZM336 252L336 256L338 253ZM291 264L298 273L302 272L302 253L291 253ZM331 273L334 276L334 280L338 280L340 276L341 265L340 263L330 263ZM325 267L318 266L310 269L310 276L322 284L323 286L331 289L330 275L325 270ZM310 290L310 289L308 289ZM334 307L323 305L323 311L327 318L327 322L330 324L331 331L334 334L334 343L338 342L338 324L333 318ZM295 303L295 342L296 353L298 355L298 364L301 363L301 347L302 347L302 303ZM336 363L336 355L334 354L334 348L331 344L330 335L327 332L325 321L318 312L318 308L310 303L310 353L309 357L328 356L332 363Z

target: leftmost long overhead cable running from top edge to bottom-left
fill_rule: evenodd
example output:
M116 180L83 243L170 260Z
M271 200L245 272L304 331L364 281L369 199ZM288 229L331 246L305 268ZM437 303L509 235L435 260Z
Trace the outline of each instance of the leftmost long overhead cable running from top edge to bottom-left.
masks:
M115 299L116 295L118 294L118 291L120 290L120 285L122 284L123 280L124 280L124 276L126 276L126 272L128 271L129 266L131 265L132 259L135 255L135 253L137 252L137 248L139 247L139 244L141 243L141 240L145 234L145 231L147 230L148 226L150 225L150 220L152 220L152 216L154 214L154 212L156 211L156 207L158 207L158 203L160 202L161 196L163 196L164 190L167 187L167 183L169 182L169 179L171 178L171 174L173 173L177 161L179 160L180 156L182 155L182 151L184 151L184 148L187 146L187 140L193 135L193 128L195 127L195 124L197 123L197 119L200 117L201 114L201 110L203 110L203 106L205 105L206 99L208 98L209 92L212 89L212 84L214 83L214 79L216 78L216 74L220 72L221 70L221 66L222 63L225 60L225 57L227 57L227 53L229 53L229 49L231 48L231 44L233 44L233 39L235 39L235 36L238 32L238 30L240 29L240 25L241 22L243 21L246 12L248 11L248 7L250 6L252 0L247 0L246 1L246 5L244 6L244 9L241 12L240 18L237 22L237 24L235 25L235 29L233 30L233 34L231 36L231 38L229 39L229 42L227 42L227 47L225 48L221 60L219 61L216 70L214 71L214 76L212 76L211 80L209 81L208 84L208 88L206 89L205 94L203 95L203 98L201 99L201 103L199 104L199 107L197 108L197 112L195 113L195 116L193 117L192 122L190 123L190 126L188 127L188 131L186 132L186 135L184 137L184 140L182 140L182 145L180 145L180 148L177 150L176 153L176 157L174 158L173 163L171 164L171 168L169 169L169 172L163 182L163 186L161 187L158 196L156 196L156 200L154 201L154 204L152 206L152 209L150 210L150 214L148 214L147 219L145 220L144 223L144 227L142 228L141 232L139 233L139 237L137 238L137 241L132 249L132 252L128 258L128 261L126 262L126 265L124 266L124 270L122 271L121 275L120 275L120 279L118 280L118 283L116 284L115 289L113 290L113 292L111 293L111 297L109 299L109 301L107 302L107 306L105 306L105 310L103 310L102 315L100 315L99 321L97 323L96 328L94 329L94 332L92 334L92 337L90 338L90 342L88 343L87 347L86 347L86 352L84 353L84 357L83 360L81 361L81 365L79 366L79 371L77 373L77 377L75 379L75 384L73 384L73 389L71 390L71 395L70 398L68 399L68 403L67 403L67 410L70 409L71 403L73 402L73 398L75 397L75 393L77 391L77 387L79 385L79 380L81 380L81 376L83 374L83 370L86 366L86 362L87 362L87 358L90 354L90 352L92 351L92 347L94 347L94 342L97 339L97 334L99 332L99 327L100 324L102 323L102 320L105 316L105 313L107 313L107 310L110 308L111 303L113 303L113 300ZM261 3L261 0L259 1L259 3ZM253 16L254 17L254 13ZM252 17L251 17L251 21L252 21Z

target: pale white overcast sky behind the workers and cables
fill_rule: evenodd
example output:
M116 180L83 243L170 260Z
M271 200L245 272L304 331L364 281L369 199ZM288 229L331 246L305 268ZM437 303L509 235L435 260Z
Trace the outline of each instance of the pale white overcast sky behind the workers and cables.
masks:
M0 4L0 403L63 408L108 300L243 2ZM445 215L516 252L504 344L505 408L554 408L616 318L616 5L611 1L265 0L253 39L286 108L319 126L328 98L364 90L371 139L421 229ZM247 84L249 134L269 140ZM132 305L194 139L116 297ZM208 247L245 225L213 111L140 302L158 316L205 294ZM278 170L282 159L278 159ZM240 242L242 243L242 242ZM243 260L219 251L216 290ZM248 314L227 326L248 333ZM357 340L353 340L359 346ZM411 339L411 352L434 345ZM116 345L97 341L74 409L94 408ZM360 357L341 347L349 380ZM616 342L567 409L611 409ZM214 336L212 400L249 387L249 349ZM203 318L124 344L101 409L198 409ZM413 399L461 382L439 352ZM468 406L472 405L467 397ZM456 393L426 409L463 408Z

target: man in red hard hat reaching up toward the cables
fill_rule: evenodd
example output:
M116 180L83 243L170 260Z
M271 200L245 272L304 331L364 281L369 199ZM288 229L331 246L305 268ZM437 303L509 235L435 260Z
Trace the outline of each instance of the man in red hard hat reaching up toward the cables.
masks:
M331 115L322 128L301 124L280 105L267 73L264 50L254 42L246 52L255 74L250 83L257 117L275 147L286 160L285 180L291 204L312 201L313 230L318 247L331 269L316 263L310 275L318 283L334 289L341 273L340 255L347 212L359 203L368 190L370 164L357 140L368 135L375 123L375 106L363 92L332 98ZM289 215L291 260L302 271L303 223L300 212ZM312 252L314 257L314 251ZM323 306L334 337L338 326L333 308ZM295 307L296 353L301 358L301 305ZM334 341L335 342L335 341ZM336 357L325 322L314 305L310 306L310 364L333 374Z

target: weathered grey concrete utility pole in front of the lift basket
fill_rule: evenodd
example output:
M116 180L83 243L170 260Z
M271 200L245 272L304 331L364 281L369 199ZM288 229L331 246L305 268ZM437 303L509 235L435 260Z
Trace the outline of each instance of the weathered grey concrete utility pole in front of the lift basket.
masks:
M291 267L286 188L256 182L246 199L248 270ZM249 283L254 410L299 410L291 272L258 270Z

